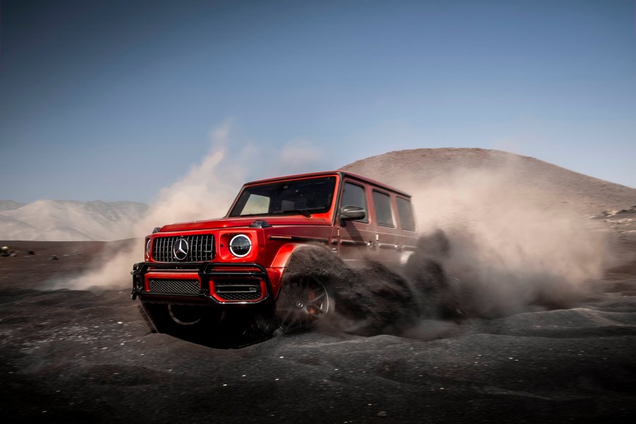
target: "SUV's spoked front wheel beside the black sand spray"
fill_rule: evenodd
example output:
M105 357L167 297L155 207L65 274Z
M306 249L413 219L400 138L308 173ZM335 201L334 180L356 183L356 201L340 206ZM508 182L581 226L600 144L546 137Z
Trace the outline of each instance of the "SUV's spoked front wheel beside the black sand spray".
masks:
M329 292L322 281L315 277L286 284L276 301L276 315L283 332L306 328L332 308Z

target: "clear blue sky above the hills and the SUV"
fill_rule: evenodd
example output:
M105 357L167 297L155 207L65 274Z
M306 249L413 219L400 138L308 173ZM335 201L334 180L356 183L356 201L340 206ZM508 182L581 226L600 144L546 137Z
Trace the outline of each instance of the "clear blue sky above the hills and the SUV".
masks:
M149 202L219 128L250 178L482 147L636 187L635 7L1 0L0 200Z

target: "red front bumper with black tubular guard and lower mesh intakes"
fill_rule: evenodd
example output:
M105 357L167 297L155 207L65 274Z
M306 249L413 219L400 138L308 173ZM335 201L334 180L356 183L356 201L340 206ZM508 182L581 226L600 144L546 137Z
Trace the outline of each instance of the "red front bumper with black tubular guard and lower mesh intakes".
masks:
M255 263L133 265L133 301L183 305L260 305L271 298L267 270Z

